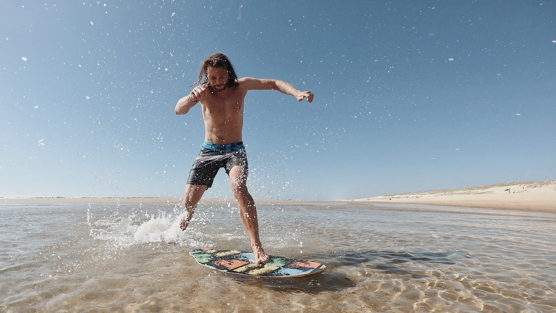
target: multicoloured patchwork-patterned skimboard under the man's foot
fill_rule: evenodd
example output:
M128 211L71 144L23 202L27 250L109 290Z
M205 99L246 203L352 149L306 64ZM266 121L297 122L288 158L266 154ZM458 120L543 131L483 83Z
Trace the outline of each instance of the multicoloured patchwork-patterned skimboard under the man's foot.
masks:
M210 248L189 251L198 264L210 269L247 276L301 277L320 273L326 265L319 262L271 256L264 264L255 263L253 252L215 250Z

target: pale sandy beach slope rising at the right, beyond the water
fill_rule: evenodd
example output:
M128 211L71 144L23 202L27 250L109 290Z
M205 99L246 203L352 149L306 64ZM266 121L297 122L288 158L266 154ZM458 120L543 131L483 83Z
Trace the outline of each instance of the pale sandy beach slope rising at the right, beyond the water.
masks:
M453 190L401 193L354 201L556 212L556 181L509 182Z

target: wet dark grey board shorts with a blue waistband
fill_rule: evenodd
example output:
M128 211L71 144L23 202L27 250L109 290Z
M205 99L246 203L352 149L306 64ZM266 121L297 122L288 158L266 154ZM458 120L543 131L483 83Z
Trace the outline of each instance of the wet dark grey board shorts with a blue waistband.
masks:
M206 185L207 189L212 187L212 182L220 168L225 168L226 174L234 166L249 168L247 163L247 152L242 141L219 145L218 143L203 142L201 153L195 158L187 185Z

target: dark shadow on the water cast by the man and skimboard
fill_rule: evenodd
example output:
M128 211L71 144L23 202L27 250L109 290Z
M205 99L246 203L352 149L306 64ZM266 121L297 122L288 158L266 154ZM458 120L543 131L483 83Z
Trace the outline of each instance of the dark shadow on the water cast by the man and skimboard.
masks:
M458 255L454 257L455 255ZM384 272L396 276L410 276L414 279L424 277L411 271L402 269L400 264L413 262L414 264L456 264L461 252L394 252L394 251L350 251L327 255L315 255L312 259L322 260L327 269L319 274L304 277L249 277L230 275L232 279L242 284L265 287L274 291L289 293L320 294L321 292L354 291L364 286L364 280L356 276L342 274L345 269ZM465 256L464 256L465 257Z

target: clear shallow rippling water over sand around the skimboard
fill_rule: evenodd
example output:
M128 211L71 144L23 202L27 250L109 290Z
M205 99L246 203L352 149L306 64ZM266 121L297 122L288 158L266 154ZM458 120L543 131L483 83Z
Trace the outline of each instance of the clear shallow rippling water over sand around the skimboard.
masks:
M249 250L235 203L0 205L2 312L554 312L556 214L423 205L260 203L269 254L321 274L198 265Z

